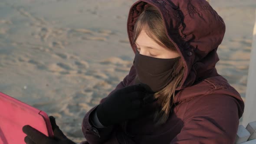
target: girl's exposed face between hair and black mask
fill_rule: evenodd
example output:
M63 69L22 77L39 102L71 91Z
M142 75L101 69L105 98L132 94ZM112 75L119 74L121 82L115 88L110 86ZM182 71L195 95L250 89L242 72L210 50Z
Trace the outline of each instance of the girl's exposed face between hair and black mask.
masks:
M138 52L144 56L155 57L159 59L172 59L180 56L178 52L174 52L171 49L165 49L158 45L153 39L151 39L146 32L142 29L140 35L135 42Z

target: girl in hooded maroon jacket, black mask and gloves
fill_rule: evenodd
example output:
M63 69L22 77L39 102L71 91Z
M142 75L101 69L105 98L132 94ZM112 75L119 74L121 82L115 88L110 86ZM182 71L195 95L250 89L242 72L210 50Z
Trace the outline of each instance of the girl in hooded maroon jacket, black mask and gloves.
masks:
M215 68L225 23L210 4L139 0L127 30L134 64L85 115L81 144L234 144L244 103ZM26 143L74 144L50 119L55 139L25 126Z

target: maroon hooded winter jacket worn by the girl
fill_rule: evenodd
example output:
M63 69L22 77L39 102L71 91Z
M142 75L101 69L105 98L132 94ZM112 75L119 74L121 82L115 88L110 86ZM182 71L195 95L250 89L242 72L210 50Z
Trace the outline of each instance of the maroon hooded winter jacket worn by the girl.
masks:
M92 108L82 122L86 140L89 144L234 144L244 102L215 68L219 61L217 48L225 33L223 19L206 0L139 0L128 14L130 42L134 24L147 3L157 7L163 16L167 35L185 64L174 97L177 105L159 127L145 117L98 129L100 137L92 132L89 123ZM133 43L131 48L136 51ZM135 77L132 65L112 92L134 85Z

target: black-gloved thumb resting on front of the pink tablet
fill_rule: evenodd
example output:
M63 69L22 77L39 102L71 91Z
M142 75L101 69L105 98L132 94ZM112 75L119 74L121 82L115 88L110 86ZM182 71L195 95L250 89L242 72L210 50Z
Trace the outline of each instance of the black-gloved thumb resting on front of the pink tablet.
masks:
M22 131L36 144L48 144L50 141L49 137L30 125L25 125Z

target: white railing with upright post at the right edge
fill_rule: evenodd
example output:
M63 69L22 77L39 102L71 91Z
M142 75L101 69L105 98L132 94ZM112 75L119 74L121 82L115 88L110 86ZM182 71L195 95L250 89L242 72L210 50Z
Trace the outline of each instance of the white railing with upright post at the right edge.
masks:
M243 113L243 125L236 133L236 144L256 144L256 12L253 30L253 43L250 55L249 72ZM250 122L249 121L253 121ZM249 124L248 124L249 123Z

